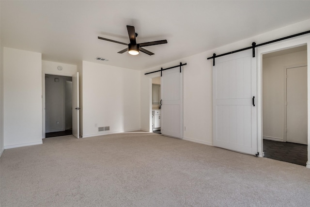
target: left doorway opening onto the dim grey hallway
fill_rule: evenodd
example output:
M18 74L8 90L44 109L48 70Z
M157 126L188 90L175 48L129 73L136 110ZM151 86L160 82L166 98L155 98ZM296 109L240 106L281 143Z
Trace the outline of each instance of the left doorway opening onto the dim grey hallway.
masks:
M45 75L45 137L72 134L72 77Z

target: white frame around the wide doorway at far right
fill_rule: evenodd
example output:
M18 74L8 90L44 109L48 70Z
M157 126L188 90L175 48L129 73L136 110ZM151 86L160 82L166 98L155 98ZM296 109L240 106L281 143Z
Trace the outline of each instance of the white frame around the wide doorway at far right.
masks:
M289 40L269 44L257 48L257 147L259 157L264 157L263 153L263 54L276 52L283 49L295 48L307 45L307 89L308 89L308 129L310 129L310 35L294 37ZM307 168L310 168L310 130L308 130L308 161Z

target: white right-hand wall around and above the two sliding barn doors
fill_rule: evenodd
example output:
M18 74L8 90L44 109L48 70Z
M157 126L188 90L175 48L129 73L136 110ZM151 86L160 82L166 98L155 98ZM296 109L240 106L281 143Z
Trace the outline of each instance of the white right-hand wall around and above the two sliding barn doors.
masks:
M187 63L183 74L183 123L186 127L183 136L186 140L198 143L213 144L212 135L212 57L213 53L223 54L236 49L250 47L252 42L256 44L271 41L284 36L309 30L310 19L294 25L286 26L278 30L263 33L245 40L241 40L220 48L215 48L174 62L148 68L141 72L141 128L149 129L151 107L151 83L150 78L160 76L158 74L144 75L146 72L159 70ZM207 38L207 37L206 37ZM278 43L280 44L280 43Z

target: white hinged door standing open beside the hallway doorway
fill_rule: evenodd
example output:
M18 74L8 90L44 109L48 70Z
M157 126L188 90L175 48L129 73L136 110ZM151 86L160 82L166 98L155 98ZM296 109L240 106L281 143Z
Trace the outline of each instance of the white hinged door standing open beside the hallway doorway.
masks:
M78 72L72 76L72 134L79 138Z

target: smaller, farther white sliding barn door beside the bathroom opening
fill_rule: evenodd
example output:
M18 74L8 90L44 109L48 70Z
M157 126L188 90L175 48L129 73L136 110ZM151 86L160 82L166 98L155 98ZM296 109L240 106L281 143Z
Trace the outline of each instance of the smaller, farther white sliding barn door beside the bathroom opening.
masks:
M180 68L162 72L160 132L163 135L183 138L183 76Z

